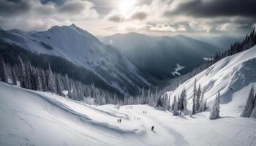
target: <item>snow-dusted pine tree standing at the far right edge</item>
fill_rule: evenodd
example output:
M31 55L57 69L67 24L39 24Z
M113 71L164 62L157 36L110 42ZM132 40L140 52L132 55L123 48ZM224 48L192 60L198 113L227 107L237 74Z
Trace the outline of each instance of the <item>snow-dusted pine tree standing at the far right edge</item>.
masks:
M241 114L241 117L247 117L249 118L252 114L252 110L255 107L255 88L254 86L252 86L250 92L249 92L249 96L248 99L246 101L246 106L244 108L244 111Z

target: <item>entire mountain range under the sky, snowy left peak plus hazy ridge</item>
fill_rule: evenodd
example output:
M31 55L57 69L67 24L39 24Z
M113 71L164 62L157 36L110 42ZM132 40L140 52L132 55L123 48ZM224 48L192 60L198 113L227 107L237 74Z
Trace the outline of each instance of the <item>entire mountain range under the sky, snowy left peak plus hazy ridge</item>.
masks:
M219 40L228 42L225 38ZM129 33L101 37L99 41L75 24L54 26L47 31L0 29L0 41L31 53L63 58L84 68L79 73L83 80L124 94L137 94L139 88L167 83L190 72L206 61L205 58L223 50L223 43L217 47L217 41L210 40Z

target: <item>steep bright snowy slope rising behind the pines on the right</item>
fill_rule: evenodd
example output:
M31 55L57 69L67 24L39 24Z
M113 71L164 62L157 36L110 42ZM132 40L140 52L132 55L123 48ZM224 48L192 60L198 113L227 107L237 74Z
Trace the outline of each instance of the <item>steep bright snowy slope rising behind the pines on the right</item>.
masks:
M256 46L223 58L217 64L210 66L179 85L175 91L169 91L167 94L170 97L178 96L183 88L186 88L191 105L195 79L197 79L197 88L200 84L205 93L208 106L211 106L211 102L220 91L222 96L221 112L227 116L240 115L248 98L249 89L252 85L256 85ZM189 108L191 109L191 107Z

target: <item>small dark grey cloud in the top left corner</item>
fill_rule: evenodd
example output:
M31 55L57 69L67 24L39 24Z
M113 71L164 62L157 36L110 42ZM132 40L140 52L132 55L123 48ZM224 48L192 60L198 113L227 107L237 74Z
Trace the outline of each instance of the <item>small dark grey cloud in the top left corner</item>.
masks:
M0 0L0 15L2 17L10 17L12 15L20 15L28 12L31 6L29 1L25 0Z

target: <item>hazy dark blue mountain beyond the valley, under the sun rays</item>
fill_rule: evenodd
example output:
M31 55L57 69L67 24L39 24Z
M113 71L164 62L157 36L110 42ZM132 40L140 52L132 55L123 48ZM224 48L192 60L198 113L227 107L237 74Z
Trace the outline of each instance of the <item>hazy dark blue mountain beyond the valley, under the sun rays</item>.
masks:
M201 64L203 58L211 58L219 47L196 39L176 37L151 37L144 34L114 34L101 37L107 45L116 47L132 63L159 80L177 77L176 64L186 66L179 73L185 74Z

